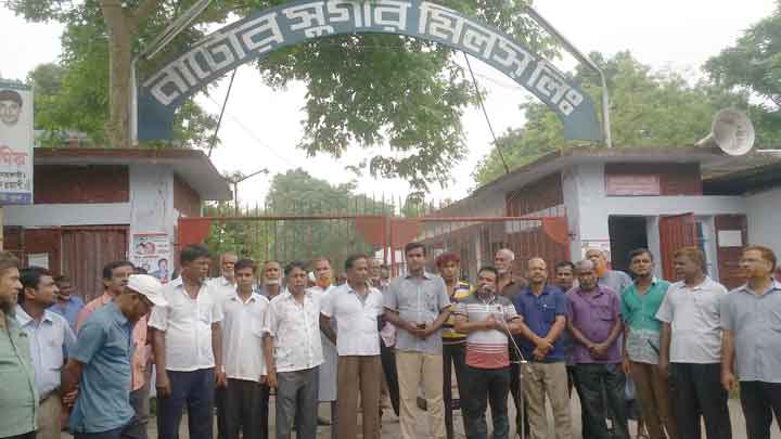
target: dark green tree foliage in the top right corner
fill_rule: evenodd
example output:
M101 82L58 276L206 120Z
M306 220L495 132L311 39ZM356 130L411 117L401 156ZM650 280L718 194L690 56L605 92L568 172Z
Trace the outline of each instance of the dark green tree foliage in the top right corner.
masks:
M735 46L705 64L719 86L743 90L757 98L748 115L757 143L781 145L781 1L776 12L750 27Z

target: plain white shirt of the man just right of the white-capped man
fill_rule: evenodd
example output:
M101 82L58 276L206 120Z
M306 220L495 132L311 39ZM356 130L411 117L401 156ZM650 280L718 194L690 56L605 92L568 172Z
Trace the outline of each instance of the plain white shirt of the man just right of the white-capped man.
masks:
M207 283L195 298L184 290L181 277L163 285L167 307L154 307L149 325L165 332L166 369L193 372L215 366L212 325L222 320L222 307Z

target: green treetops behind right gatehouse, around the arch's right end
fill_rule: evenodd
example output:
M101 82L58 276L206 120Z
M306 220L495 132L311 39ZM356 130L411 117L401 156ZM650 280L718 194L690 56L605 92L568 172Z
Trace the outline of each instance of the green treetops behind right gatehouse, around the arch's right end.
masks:
M678 73L652 70L629 52L619 52L606 60L593 53L591 59L607 77L615 147L693 144L710 132L710 122L718 109L747 106L745 93L730 92L706 81L690 85ZM575 80L596 103L601 102L596 73L578 68ZM511 169L577 144L564 140L561 121L546 105L527 102L521 108L526 114L524 127L509 130L498 139ZM481 163L474 178L478 184L485 184L502 173L504 168L495 147Z

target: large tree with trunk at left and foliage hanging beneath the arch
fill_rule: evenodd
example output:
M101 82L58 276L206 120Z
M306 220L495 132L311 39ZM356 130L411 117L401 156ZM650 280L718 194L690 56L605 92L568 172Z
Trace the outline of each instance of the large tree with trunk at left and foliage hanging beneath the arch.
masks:
M367 0L370 1L370 0ZM118 101L127 85L123 77L130 55L157 36L193 0L10 0L10 7L30 21L65 23L63 89L74 98L62 114L85 115L84 125L97 140L127 145L127 105ZM228 17L284 3L282 0L221 0L213 2L194 25L150 63L141 77L154 72L204 29ZM524 0L444 0L512 35L547 56L555 55L552 40L523 14ZM370 170L401 177L418 191L444 182L464 154L461 115L475 92L451 61L451 51L434 43L390 35L319 39L277 51L257 63L263 81L283 88L292 80L308 87L307 118L299 146L310 154L344 154L350 143L372 147L387 143L392 152L377 155ZM111 83L111 87L110 87ZM89 105L75 105L76 96ZM189 111L189 113L188 113ZM179 115L179 142L200 145L210 121L195 105ZM53 125L60 129L65 125ZM101 122L106 130L100 133ZM193 132L195 131L195 132Z

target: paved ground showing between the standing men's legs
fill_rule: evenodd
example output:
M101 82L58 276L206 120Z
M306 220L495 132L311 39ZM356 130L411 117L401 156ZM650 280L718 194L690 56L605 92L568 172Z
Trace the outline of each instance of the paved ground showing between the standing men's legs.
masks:
M271 403L273 404L273 401ZM730 414L731 414L731 419L732 419L732 438L733 439L748 439L745 436L745 419L743 418L743 412L741 411L740 402L738 400L733 399L733 400L730 400L729 403L730 403ZM514 413L514 410L512 409L512 403L510 403L510 405L511 405L510 418L514 418L515 413ZM579 404L576 396L573 397L572 405L573 405L573 413L579 413L580 404ZM320 414L323 417L328 417L328 415L329 415L328 409L329 409L328 404L321 404ZM428 428L426 426L425 416L422 415L423 412L420 412L419 414L420 414L420 416L418 417L418 438L431 438L431 434L428 432ZM270 417L271 417L270 422L273 423L273 410L271 410ZM460 412L456 412L453 417L454 417L454 425L456 425L456 432L457 432L456 438L457 439L465 438L465 436L463 434L463 424L462 424ZM553 438L553 430L552 430L553 422L552 422L552 417L550 416L550 413L549 413L549 418L550 418L549 425L551 427L549 438L552 439ZM490 423L490 416L489 416L489 423ZM573 423L574 423L574 428L575 428L574 437L580 438L580 417L574 416ZM157 431L156 431L154 424L155 424L154 419L152 419L150 422L150 438L152 438L152 439L156 438L156 436L157 436ZM771 435L772 439L781 439L781 432L779 432L778 426L774 423L773 423L772 428L773 428L772 435ZM637 425L633 422L630 423L629 430L631 432L632 438L635 438L636 432L637 432ZM272 431L273 431L273 429L272 429ZM516 437L514 428L512 428L510 432L511 432L511 436L510 436L511 438ZM180 430L179 437L180 437L180 439L188 438L187 422L182 422L182 429ZM330 437L331 437L330 427L320 427L320 429L318 431L318 439L330 439ZM401 438L401 435L399 432L398 418L393 414L393 411L389 411L389 410L385 411L385 416L383 417L383 425L382 425L382 437L384 439L400 439ZM215 438L216 438L216 435L215 435ZM372 438L372 439L374 439L374 438Z

